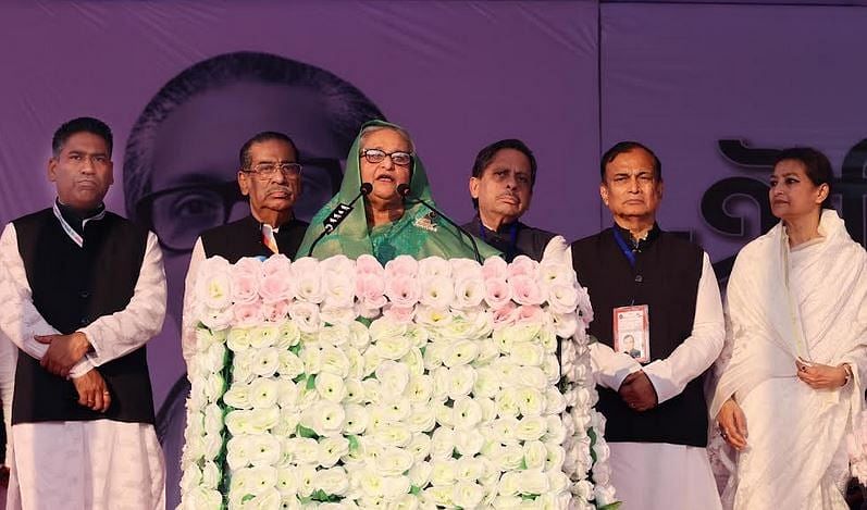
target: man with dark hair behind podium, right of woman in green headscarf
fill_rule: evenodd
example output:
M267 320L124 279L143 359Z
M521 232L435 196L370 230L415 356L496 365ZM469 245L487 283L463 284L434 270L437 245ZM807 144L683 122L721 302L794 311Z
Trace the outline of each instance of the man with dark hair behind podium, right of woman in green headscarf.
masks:
M519 221L530 209L535 182L536 159L523 141L506 139L483 148L470 177L476 214L463 228L503 251L509 262L519 254L542 260L555 234Z

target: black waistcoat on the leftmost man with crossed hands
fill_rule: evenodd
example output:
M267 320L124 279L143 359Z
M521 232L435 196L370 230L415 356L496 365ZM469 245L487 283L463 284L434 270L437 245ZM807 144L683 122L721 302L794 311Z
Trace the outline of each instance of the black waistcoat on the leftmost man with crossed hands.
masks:
M78 247L51 209L15 220L18 253L24 262L33 303L62 334L126 308L135 291L147 245L147 231L106 213L84 228ZM77 403L71 381L52 375L39 360L18 352L12 423L83 421L102 418L153 423L153 397L145 347L97 369L111 391L104 413Z

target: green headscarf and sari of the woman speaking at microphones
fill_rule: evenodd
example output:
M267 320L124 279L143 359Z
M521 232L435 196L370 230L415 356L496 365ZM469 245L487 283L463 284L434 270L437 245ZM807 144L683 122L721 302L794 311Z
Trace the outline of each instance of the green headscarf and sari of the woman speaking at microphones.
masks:
M361 126L363 132L369 126L383 126L399 128L395 124L383 121L371 121ZM361 135L356 137L349 156L346 158L346 172L344 173L340 190L319 210L310 221L310 227L305 234L301 247L296 257L307 257L310 245L324 231L323 222L339 203L349 203L358 196L361 187L361 171L359 169ZM437 207L431 197L431 187L428 174L418 156L412 157L412 174L409 182L412 198L420 197ZM405 203L404 215L392 223L368 228L368 217L361 200L356 202L355 209L346 216L340 225L325 236L315 246L312 256L317 259L343 253L350 259L369 253L383 264L397 256L408 254L416 259L438 256L444 259L475 257L470 240L449 225L446 221L432 214L431 210L421 203ZM438 209L438 207L437 207ZM475 239L482 260L499 252Z

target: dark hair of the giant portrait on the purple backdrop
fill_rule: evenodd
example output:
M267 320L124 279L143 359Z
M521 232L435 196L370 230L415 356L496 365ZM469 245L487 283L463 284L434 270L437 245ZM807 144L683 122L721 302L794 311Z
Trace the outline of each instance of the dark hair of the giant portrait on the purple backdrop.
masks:
M157 92L138 116L123 165L124 197L129 217L151 189L151 150L160 124L189 98L239 82L309 87L319 92L329 128L346 150L364 122L385 115L359 89L313 65L271 53L238 51L212 57L185 69ZM339 154L342 158L344 154Z

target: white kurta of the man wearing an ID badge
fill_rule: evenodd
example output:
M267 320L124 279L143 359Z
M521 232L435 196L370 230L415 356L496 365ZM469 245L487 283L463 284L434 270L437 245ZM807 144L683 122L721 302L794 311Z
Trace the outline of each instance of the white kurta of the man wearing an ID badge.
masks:
M598 312L597 312L598 313ZM604 316L604 314L599 314ZM631 373L644 370L659 403L669 400L701 376L719 356L724 321L719 286L707 253L695 302L692 335L666 359L645 366L605 344L591 345L596 384L617 390ZM608 443L611 482L623 510L714 510L719 494L705 448L661 443Z

